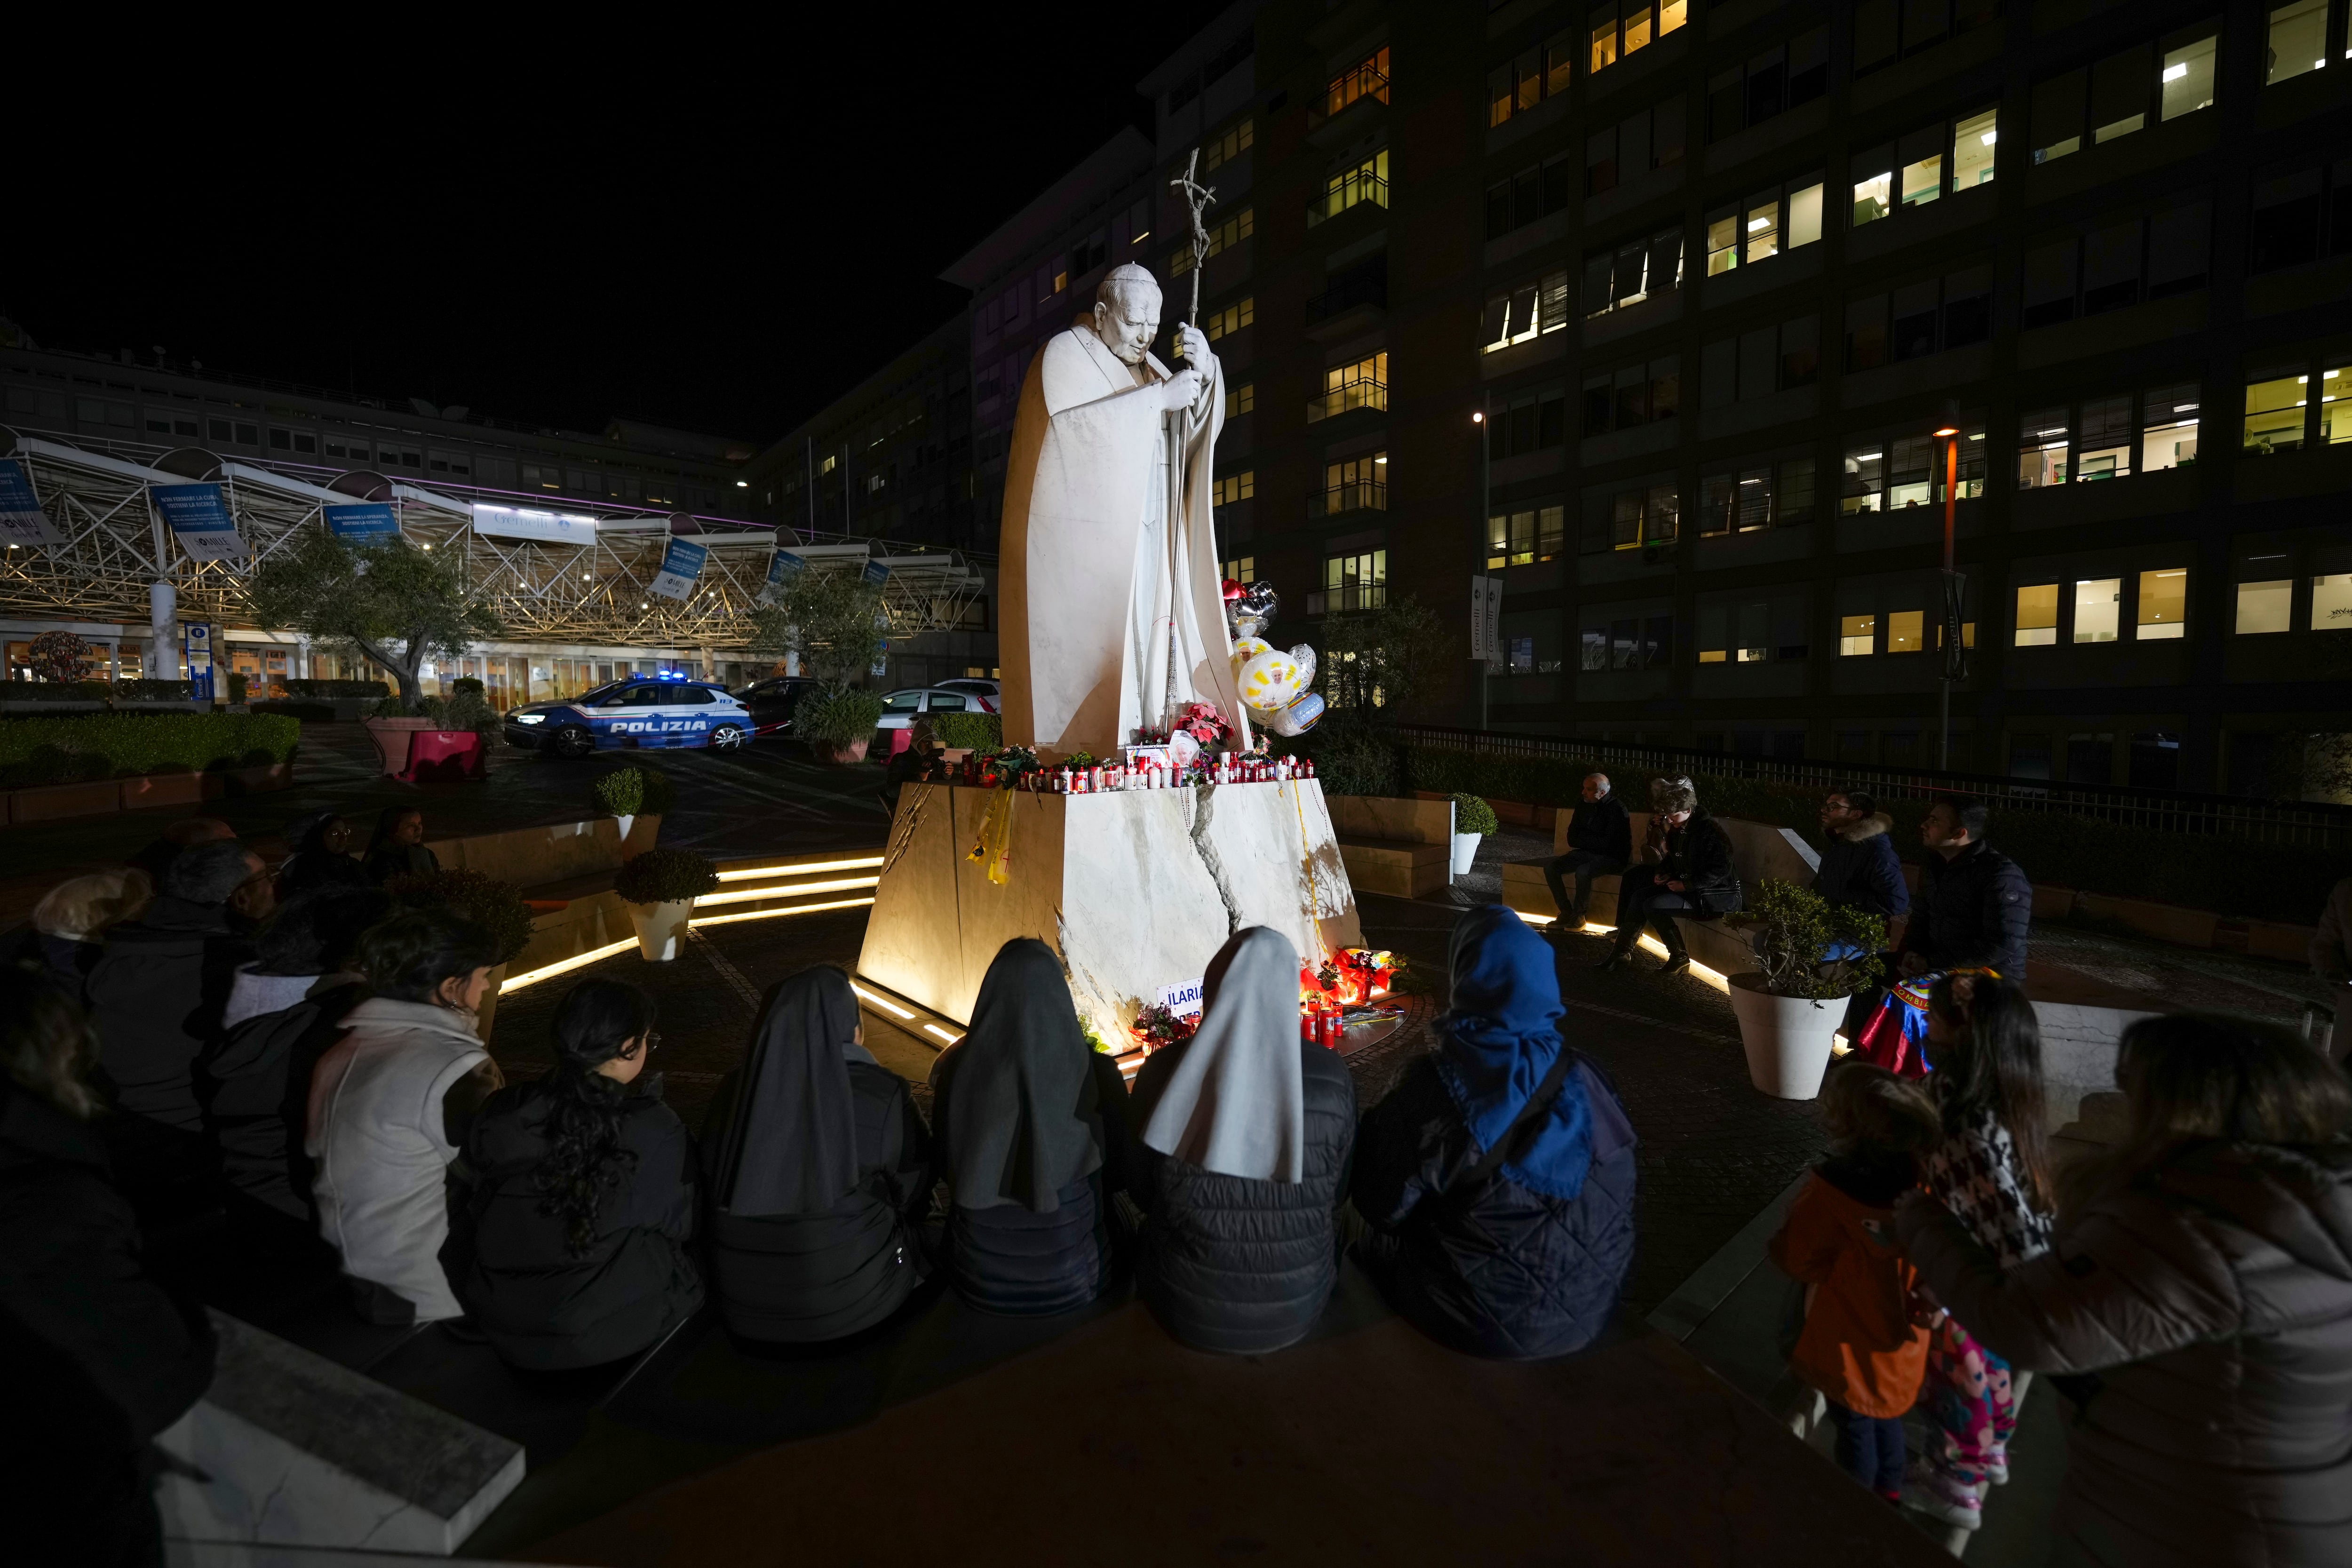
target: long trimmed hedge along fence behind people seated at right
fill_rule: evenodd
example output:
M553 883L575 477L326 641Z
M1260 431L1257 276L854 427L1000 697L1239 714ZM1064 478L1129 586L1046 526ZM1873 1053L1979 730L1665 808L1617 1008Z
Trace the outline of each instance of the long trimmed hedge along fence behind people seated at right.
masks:
M1585 773L1611 773L1628 811L1649 806L1649 773L1545 757L1491 757L1435 748L1399 748L1404 788L1437 795L1470 792L1536 806L1573 806ZM1717 816L1738 816L1773 827L1795 827L1820 846L1820 795L1757 778L1693 773L1698 804ZM1896 853L1922 860L1919 818L1924 797L1879 797L1879 811L1896 818ZM2119 827L2058 811L1999 811L1985 837L2025 867L2032 882L2070 886L2110 898L2152 898L2190 910L2216 910L2251 919L2310 924L2328 900L2328 889L2352 877L2352 851L2251 844L2218 835Z

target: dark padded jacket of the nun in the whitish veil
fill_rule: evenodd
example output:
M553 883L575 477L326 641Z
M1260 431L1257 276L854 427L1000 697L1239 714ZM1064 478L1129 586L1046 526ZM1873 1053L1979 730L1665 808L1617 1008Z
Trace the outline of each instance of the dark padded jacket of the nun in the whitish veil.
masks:
M1355 1079L1336 1051L1301 1041L1305 1180L1218 1175L1141 1138L1183 1051L1143 1063L1129 1110L1131 1197L1143 1208L1136 1291L1185 1345L1244 1356L1296 1345L1338 1284L1334 1218L1355 1154Z

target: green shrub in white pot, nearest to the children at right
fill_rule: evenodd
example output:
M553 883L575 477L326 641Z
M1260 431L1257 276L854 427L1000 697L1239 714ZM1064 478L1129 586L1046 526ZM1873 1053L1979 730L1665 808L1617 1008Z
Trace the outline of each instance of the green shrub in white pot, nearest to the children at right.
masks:
M1731 976L1748 1081L1780 1100L1811 1100L1830 1067L1844 999L1879 980L1886 922L1832 910L1820 893L1766 877L1738 924L1759 938L1759 969Z

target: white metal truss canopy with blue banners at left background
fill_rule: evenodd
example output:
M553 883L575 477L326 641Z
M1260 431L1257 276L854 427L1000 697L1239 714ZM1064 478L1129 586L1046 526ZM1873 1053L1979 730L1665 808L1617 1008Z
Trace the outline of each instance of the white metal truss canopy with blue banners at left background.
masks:
M807 571L887 569L882 604L894 637L955 628L983 583L957 550L866 538L828 543L793 529L428 487L376 473L318 484L200 447L125 456L113 444L96 451L0 425L0 456L24 465L42 512L66 536L66 543L5 552L0 614L143 623L148 585L160 581L176 590L181 618L249 625L245 581L252 569L287 548L299 529L325 527L325 508L353 501L390 505L412 543L459 550L466 581L492 604L508 637L522 642L741 649L776 550L797 555ZM221 487L247 548L242 559L193 559L165 527L153 487L188 482ZM564 538L485 534L475 524L487 515L548 520ZM492 527L499 529L499 520ZM654 592L673 538L708 552L684 599Z

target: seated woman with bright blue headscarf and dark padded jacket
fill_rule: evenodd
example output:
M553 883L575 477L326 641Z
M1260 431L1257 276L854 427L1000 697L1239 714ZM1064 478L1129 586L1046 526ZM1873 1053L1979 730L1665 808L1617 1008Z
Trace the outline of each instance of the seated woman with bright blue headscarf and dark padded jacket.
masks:
M1454 926L1454 997L1367 1117L1357 1260L1390 1305L1472 1356L1583 1349L1632 1265L1632 1126L1559 1039L1552 950L1503 905Z

